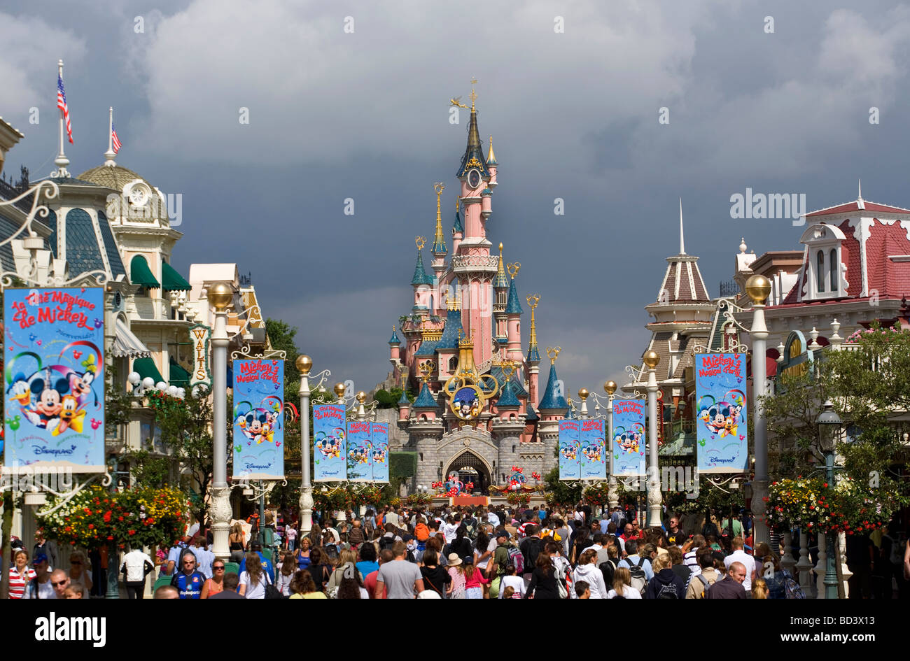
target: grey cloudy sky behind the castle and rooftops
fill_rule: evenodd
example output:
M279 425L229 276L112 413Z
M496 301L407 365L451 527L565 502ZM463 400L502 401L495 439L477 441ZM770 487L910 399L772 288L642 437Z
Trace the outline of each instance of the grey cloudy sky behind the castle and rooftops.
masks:
M804 5L32 0L0 11L0 115L25 134L6 172L54 167L62 57L71 172L104 160L113 105L117 162L183 195L175 265L237 262L317 369L369 389L412 305L435 181L450 236L467 115L451 125L448 100L474 76L500 163L489 238L521 262L522 300L541 295L567 386L599 388L646 346L679 197L711 295L741 236L800 247L789 219L731 218L746 187L813 209L862 178L866 199L910 206L910 6Z

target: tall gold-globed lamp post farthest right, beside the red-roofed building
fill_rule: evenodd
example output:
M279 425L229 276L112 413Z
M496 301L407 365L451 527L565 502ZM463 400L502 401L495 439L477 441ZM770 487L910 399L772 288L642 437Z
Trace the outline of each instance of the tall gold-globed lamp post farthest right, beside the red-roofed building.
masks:
M768 496L768 421L764 416L762 397L765 394L765 343L768 326L764 323L764 301L771 294L771 281L764 275L753 275L745 284L745 293L752 299L752 395L753 426L755 430L755 478L753 480L753 522L755 544L771 544L764 498Z

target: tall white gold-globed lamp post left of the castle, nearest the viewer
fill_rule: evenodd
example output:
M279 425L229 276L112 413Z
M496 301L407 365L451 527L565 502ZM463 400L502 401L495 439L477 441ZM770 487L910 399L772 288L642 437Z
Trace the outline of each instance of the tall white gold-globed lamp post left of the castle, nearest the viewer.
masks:
M208 516L212 522L212 552L219 559L230 557L230 487L227 486L227 307L234 292L226 283L208 287L208 302L215 308L212 330L212 499Z

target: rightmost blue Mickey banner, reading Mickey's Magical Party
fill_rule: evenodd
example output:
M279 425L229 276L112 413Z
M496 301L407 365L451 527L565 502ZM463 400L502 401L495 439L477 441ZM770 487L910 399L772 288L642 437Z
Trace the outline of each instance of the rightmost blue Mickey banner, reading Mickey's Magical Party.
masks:
M745 354L696 354L698 469L743 473L748 467Z

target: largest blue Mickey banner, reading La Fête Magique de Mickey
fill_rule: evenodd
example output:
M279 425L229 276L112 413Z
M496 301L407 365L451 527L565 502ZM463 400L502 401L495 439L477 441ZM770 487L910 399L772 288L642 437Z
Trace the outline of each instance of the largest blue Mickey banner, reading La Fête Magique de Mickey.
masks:
M104 289L4 296L6 468L104 473Z

